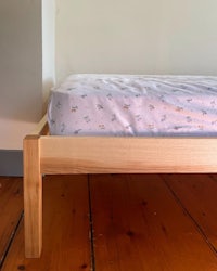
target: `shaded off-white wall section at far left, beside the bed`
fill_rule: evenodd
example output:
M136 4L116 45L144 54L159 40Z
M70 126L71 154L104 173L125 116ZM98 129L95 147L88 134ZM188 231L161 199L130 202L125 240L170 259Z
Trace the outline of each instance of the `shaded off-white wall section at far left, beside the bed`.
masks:
M22 149L42 112L41 3L0 1L0 149Z

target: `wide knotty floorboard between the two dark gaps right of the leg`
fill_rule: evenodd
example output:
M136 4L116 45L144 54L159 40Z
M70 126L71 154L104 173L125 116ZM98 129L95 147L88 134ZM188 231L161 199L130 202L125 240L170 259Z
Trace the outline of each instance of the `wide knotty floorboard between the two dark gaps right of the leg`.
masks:
M217 270L215 253L161 177L90 180L95 271Z

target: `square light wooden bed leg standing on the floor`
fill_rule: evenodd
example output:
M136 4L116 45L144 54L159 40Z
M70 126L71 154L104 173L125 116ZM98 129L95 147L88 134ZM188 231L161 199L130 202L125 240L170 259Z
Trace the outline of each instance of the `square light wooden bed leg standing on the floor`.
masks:
M24 139L24 238L26 258L39 258L42 249L42 177L40 137Z

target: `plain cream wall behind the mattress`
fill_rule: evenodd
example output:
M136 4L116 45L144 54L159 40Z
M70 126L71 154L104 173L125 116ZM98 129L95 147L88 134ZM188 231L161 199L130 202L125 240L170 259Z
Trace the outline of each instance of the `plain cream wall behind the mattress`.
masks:
M216 0L56 0L56 77L217 75Z

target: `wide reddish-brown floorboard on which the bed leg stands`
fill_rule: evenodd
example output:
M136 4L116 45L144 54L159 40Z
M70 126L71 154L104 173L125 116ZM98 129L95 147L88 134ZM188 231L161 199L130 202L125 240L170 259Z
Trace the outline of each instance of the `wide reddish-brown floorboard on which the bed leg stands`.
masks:
M91 270L87 176L43 180L43 249L40 259L24 258L21 223L2 271Z

